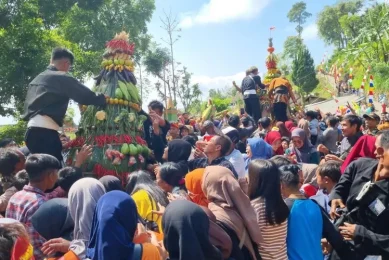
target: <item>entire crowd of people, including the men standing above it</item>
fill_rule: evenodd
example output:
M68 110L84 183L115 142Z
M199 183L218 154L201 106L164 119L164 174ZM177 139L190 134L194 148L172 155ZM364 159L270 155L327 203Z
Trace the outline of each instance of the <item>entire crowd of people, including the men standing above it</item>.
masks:
M152 101L146 169L96 179L82 172L91 146L63 163L69 99L105 102L66 74L73 60L54 50L31 83L27 147L0 141L0 260L389 259L389 131L377 114L291 117L280 78L275 118L261 118L253 68L242 94L254 118L168 122Z

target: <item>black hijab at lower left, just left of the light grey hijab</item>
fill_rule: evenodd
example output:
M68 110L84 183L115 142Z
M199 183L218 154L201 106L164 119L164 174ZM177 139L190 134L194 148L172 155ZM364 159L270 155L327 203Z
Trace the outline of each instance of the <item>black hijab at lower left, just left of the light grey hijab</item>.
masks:
M31 223L46 240L62 237L72 240L74 222L69 213L68 199L51 199L32 215Z

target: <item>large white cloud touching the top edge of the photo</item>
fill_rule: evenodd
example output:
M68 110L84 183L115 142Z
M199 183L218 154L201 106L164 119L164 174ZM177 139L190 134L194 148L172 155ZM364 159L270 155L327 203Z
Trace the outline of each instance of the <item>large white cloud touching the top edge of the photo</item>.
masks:
M258 15L271 0L210 0L198 12L183 15L181 27L195 24L223 23L231 20L251 19Z

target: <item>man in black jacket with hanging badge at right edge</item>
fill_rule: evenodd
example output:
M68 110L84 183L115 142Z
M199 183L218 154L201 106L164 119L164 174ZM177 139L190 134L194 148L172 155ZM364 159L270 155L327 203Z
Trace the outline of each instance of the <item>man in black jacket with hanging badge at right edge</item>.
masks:
M338 223L345 240L354 242L358 258L353 259L389 259L389 131L377 136L375 146L378 160L352 162L330 194L331 217L340 216L337 207L347 209ZM367 183L371 187L361 192Z

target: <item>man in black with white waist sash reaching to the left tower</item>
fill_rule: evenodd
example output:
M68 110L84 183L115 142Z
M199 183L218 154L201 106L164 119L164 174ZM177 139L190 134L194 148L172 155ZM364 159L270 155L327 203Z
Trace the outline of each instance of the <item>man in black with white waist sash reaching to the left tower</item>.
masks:
M29 84L23 120L28 121L25 141L31 153L62 158L58 134L69 100L79 104L105 106L105 96L96 94L68 74L74 55L64 48L52 52L50 65Z

